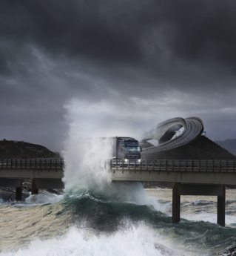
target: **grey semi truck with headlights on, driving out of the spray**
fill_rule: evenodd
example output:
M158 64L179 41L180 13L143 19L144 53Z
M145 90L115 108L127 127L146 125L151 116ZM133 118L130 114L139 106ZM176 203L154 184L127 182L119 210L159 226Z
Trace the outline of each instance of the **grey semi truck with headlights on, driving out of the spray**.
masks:
M142 147L132 137L113 137L112 157L119 160L140 160Z

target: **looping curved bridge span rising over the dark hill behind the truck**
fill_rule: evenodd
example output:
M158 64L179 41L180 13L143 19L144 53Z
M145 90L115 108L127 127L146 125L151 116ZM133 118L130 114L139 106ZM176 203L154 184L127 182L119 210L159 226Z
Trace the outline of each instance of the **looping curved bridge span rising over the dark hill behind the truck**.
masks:
M176 132L178 132L181 128L181 134L176 136ZM147 142L149 142L149 140L158 140L159 144L144 148L143 151L151 153L178 148L181 145L185 145L186 143L189 143L199 137L202 134L203 129L203 121L195 116L188 117L186 119L181 117L168 119L165 122L161 122L160 124L156 125L150 131L147 131L144 134L144 140Z

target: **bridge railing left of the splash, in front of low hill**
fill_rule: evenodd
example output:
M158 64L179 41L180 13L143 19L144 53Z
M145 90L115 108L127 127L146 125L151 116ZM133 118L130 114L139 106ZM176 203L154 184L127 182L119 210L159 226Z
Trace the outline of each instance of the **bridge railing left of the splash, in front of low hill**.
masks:
M1 169L62 169L64 160L62 158L52 159L1 159Z

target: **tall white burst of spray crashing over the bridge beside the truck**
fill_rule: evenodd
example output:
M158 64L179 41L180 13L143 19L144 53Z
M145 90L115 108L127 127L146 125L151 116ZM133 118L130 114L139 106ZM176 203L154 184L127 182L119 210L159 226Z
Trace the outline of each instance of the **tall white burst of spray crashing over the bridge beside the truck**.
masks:
M102 194L109 200L152 205L157 210L165 211L165 206L146 195L141 183L112 183L111 173L104 168L104 161L112 157L112 140L109 137L98 137L104 124L101 125L99 119L92 118L93 112L91 116L78 116L76 109L79 106L73 101L73 104L66 107L67 119L70 120L70 133L63 152L66 164L63 181L66 191L75 196L82 191L90 191L92 194ZM107 116L107 124L109 117ZM90 136L86 137L88 130Z

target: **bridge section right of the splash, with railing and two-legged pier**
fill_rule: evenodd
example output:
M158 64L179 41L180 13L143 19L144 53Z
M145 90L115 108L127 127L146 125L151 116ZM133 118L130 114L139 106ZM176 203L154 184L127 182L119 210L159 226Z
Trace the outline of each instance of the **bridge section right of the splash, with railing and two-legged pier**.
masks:
M218 197L225 226L226 185L236 185L236 160L108 160L113 182L172 183L172 223L181 220L181 195Z

